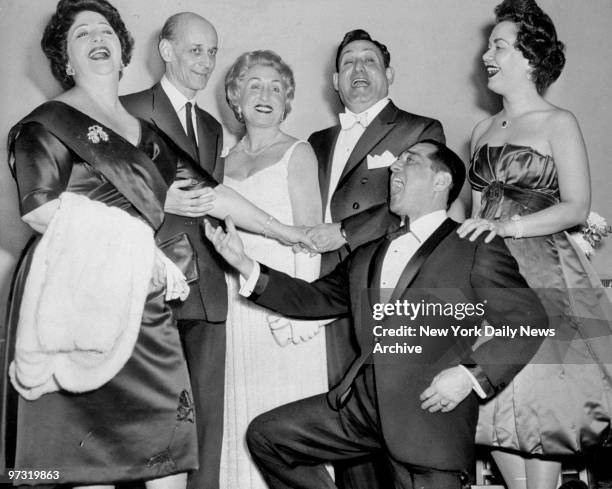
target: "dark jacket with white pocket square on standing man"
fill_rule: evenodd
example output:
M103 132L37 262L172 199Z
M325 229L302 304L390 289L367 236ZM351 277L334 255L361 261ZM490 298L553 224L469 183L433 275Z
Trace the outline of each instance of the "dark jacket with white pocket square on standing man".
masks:
M332 159L340 130L340 125L333 126L315 132L308 139L319 164L323 209L327 204ZM398 221L388 208L389 168L368 169L368 155L390 151L397 156L424 139L445 141L440 122L400 110L391 101L368 125L331 196L332 219L342 223L348 243L323 255L322 273L332 270L351 250L383 236L389 226Z

